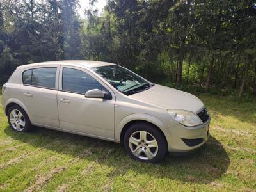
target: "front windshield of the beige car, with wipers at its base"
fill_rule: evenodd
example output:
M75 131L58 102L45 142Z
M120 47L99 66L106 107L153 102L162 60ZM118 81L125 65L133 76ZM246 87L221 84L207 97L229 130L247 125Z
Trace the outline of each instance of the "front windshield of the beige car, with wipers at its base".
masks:
M151 87L148 81L119 65L93 67L92 70L125 95L132 95Z

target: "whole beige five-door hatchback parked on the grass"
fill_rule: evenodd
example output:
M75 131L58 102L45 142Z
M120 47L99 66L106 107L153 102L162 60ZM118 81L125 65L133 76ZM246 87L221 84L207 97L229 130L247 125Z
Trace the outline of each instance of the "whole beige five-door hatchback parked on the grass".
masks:
M188 152L209 138L210 116L197 97L99 61L51 61L17 67L3 85L10 127L33 125L120 142L138 161Z

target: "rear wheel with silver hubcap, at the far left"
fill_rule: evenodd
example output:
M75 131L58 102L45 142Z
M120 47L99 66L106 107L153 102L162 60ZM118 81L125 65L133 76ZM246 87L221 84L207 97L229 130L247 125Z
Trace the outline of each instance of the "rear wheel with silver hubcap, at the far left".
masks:
M14 131L29 132L32 129L31 122L27 113L18 105L11 106L8 109L8 123Z

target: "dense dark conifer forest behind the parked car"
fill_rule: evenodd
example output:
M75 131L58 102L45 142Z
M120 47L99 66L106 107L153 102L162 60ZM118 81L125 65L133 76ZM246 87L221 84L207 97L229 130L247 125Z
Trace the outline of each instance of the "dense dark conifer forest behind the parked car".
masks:
M19 65L108 61L175 88L256 95L253 0L0 0L0 85ZM252 96L254 97L254 96Z

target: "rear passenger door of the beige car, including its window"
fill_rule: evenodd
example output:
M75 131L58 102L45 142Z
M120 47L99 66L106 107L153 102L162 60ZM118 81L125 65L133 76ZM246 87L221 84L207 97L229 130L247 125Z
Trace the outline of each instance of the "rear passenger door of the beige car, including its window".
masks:
M57 93L60 67L29 68L22 73L20 90L35 125L59 127Z

